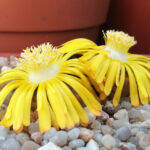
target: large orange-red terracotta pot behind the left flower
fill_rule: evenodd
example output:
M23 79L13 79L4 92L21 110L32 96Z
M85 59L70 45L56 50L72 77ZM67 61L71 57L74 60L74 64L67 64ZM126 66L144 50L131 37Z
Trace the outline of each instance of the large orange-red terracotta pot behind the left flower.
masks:
M78 37L96 40L108 6L109 0L1 0L0 52Z

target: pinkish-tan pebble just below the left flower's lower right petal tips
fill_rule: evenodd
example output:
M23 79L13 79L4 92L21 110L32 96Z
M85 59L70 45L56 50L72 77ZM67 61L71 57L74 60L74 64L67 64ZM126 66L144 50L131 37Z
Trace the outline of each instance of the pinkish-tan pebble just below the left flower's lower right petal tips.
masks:
M93 131L86 129L86 128L80 128L80 135L79 137L84 141L88 142L90 139L94 137Z

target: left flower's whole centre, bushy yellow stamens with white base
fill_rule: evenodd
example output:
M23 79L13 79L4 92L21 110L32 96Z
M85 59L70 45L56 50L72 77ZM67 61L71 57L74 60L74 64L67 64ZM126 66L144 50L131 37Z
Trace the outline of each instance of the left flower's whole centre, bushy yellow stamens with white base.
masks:
M31 47L21 53L19 67L28 73L30 81L39 83L54 77L60 69L58 49L51 44Z

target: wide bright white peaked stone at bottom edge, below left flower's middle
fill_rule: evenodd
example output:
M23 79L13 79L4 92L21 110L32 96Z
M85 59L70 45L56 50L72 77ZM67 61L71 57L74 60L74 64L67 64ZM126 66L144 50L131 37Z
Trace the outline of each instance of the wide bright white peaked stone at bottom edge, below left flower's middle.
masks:
M49 142L48 144L40 147L38 150L62 150L62 149L57 145L55 145L54 143Z

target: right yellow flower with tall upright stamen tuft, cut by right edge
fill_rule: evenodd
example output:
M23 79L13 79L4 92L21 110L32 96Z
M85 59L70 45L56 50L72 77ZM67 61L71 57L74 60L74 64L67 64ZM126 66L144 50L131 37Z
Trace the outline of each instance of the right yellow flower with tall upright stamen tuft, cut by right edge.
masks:
M148 104L150 101L150 58L128 53L136 44L134 37L118 31L104 34L105 45L93 47L81 57L87 61L88 75L99 89L101 99L105 99L116 86L113 97L118 105L125 79L128 77L131 103L134 106ZM90 47L91 49L91 47Z

